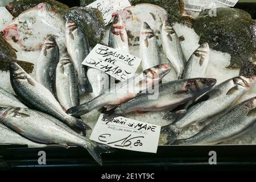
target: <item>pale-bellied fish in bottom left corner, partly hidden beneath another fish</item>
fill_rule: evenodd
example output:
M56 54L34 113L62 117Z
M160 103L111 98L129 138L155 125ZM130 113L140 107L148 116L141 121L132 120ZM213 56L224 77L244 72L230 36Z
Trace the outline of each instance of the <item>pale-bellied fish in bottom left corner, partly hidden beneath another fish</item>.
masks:
M0 112L0 114L2 113ZM46 144L35 143L22 137L2 123L0 123L0 144L20 144L27 145L28 147L46 147Z

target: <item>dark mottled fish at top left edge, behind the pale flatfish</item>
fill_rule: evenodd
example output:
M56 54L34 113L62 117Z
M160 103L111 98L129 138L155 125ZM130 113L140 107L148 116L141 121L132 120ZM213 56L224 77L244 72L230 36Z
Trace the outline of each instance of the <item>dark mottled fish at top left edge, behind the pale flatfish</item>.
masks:
M23 13L24 11L31 9L31 7L35 7L39 3L46 2L58 13L62 13L64 10L69 9L67 5L64 5L63 3L59 1L54 0L19 0L19 1L13 1L10 2L9 5L6 6L6 9L10 12L11 15L14 17L19 16L19 14Z

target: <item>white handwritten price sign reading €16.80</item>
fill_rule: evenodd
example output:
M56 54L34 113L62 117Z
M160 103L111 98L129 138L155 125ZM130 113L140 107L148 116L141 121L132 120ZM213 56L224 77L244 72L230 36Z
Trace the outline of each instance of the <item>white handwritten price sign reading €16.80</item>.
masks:
M160 126L117 117L102 119L100 115L90 139L114 148L156 153Z

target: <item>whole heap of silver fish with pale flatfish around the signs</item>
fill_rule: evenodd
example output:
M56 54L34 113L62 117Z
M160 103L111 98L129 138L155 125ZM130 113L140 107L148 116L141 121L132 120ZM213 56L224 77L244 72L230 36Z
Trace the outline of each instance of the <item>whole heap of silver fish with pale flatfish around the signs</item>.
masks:
M90 39L88 32L85 34L88 27L81 26L81 19L72 19L75 13L87 9L94 11L85 7L71 9L67 12L73 14L65 14L64 20L43 2L19 14L5 28L3 38L13 48L41 52L35 78L24 71L15 57L10 58L10 82L16 96L0 88L0 143L81 146L102 164L101 154L112 149L86 138L90 127L80 118L94 109L102 111L104 118L166 110L164 119L171 123L162 128L165 144L216 144L254 125L256 98L232 105L255 84L255 76L241 75L214 86L217 80L205 75L210 60L208 43L201 44L186 60L179 37L162 7L141 4L113 14L109 47L129 53L126 25L141 26L137 42L142 72L138 71L138 75L112 85L109 75L82 65L90 46L101 37L101 32L97 32L99 39ZM139 22L123 17L143 10L148 10L148 15ZM129 30L129 34L133 32ZM169 63L163 63L160 46ZM171 69L178 79L162 83ZM80 105L80 98L86 94L89 101ZM177 140L181 129L198 122L209 124L195 136Z

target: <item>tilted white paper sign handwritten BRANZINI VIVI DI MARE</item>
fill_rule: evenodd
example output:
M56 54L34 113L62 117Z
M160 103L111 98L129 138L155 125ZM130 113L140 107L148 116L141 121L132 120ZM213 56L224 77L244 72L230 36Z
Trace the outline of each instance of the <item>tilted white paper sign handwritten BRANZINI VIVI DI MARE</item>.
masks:
M82 64L99 69L117 80L133 77L141 59L129 53L97 44Z

